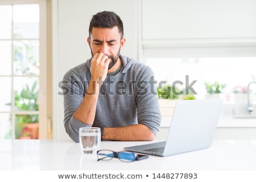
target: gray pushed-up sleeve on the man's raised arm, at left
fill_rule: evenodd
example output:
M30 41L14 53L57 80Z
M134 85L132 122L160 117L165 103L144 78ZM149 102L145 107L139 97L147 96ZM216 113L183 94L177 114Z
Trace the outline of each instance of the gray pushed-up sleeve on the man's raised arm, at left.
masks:
M72 70L64 75L61 83L64 96L64 127L74 142L79 142L80 127L90 126L73 117L73 114L84 99L85 84L86 81L81 81Z

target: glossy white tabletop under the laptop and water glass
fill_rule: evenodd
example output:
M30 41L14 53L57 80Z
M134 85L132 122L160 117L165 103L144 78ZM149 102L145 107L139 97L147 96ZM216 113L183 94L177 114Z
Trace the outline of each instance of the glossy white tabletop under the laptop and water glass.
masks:
M101 142L101 149L151 142ZM79 143L56 140L0 140L0 170L256 170L256 140L214 140L211 147L167 157L124 163L97 162L82 154Z

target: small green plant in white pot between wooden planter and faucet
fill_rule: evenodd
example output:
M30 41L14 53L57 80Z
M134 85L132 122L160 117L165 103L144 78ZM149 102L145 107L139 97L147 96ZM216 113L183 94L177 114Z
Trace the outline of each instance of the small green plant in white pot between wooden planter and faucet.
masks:
M226 84L220 84L218 81L215 81L213 83L204 82L205 90L207 94L205 95L205 98L220 98L220 94L223 92L224 88L226 87Z

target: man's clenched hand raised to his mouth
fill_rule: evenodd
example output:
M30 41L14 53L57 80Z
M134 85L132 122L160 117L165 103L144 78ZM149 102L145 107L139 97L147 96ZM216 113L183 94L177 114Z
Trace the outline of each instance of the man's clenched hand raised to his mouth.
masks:
M108 73L110 60L104 53L96 53L90 62L90 73L92 80L105 81Z

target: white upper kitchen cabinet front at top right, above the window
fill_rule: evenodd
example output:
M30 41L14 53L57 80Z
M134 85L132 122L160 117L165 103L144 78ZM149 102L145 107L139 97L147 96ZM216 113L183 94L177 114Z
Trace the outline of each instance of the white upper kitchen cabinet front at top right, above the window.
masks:
M254 0L142 0L142 38L256 37Z

